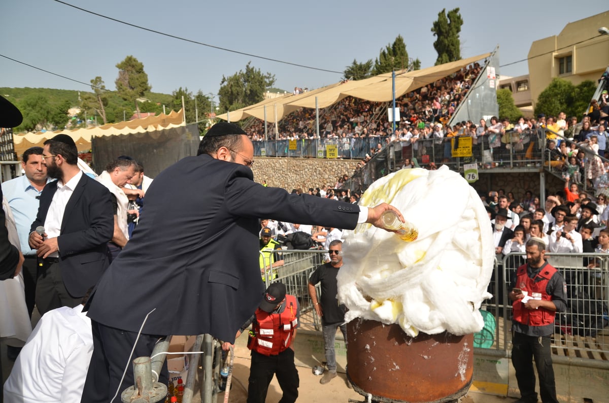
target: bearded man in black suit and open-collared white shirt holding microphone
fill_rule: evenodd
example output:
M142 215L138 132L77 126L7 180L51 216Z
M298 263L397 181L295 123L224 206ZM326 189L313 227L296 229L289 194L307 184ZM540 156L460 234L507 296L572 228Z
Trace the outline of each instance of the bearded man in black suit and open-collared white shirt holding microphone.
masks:
M43 163L57 181L44 187L29 237L42 264L36 286L41 315L80 304L108 267L107 243L114 230L110 192L79 169L77 158L68 135L44 142ZM44 239L36 231L39 226Z

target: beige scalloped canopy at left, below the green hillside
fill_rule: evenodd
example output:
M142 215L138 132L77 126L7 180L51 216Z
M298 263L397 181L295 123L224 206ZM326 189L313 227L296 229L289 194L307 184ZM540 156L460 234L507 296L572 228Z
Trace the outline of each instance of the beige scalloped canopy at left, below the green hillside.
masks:
M57 131L38 131L38 133L16 133L13 135L15 153L20 156L30 147L42 147L44 142L56 135L64 134L70 136L76 142L76 147L80 151L91 149L91 138L94 136L118 136L130 135L134 133L144 133L146 131L157 131L166 128L174 128L185 125L184 112L171 111L169 114L161 113L159 116L147 116L142 119L133 119L127 122L105 124L97 127L79 128L74 130Z

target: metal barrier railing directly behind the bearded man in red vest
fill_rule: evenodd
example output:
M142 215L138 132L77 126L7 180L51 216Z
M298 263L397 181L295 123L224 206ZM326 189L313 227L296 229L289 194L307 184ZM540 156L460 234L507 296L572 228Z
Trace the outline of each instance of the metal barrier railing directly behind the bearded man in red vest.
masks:
M596 253L547 253L547 261L565 277L568 294L567 312L556 315L552 351L556 356L609 361L609 256ZM487 329L477 337L490 337L487 348L511 350L512 303L510 292L513 276L524 263L523 253L510 253L495 260L488 290L493 299L482 310L493 314L494 331ZM591 264L596 267L589 268ZM492 326L491 326L492 328ZM484 340L482 340L484 341Z

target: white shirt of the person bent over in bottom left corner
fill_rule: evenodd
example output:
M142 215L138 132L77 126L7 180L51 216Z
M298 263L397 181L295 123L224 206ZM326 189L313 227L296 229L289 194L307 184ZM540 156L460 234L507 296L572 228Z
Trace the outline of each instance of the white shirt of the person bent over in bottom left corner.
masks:
M79 403L93 353L82 305L50 310L19 353L4 384L5 403Z

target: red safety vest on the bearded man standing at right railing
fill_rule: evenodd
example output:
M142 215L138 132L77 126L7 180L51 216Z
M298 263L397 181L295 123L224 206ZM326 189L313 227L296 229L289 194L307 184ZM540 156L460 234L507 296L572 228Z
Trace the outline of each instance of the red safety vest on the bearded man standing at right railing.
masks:
M529 296L532 296L532 293L540 293L541 300L551 301L552 296L546 292L547 282L550 281L557 271L551 265L546 264L534 278L530 278L527 275L527 265L523 264L516 270L516 287L526 291ZM554 323L556 314L554 310L544 307L526 309L521 300L513 301L512 307L514 309L514 320L518 323L528 326L546 326Z

